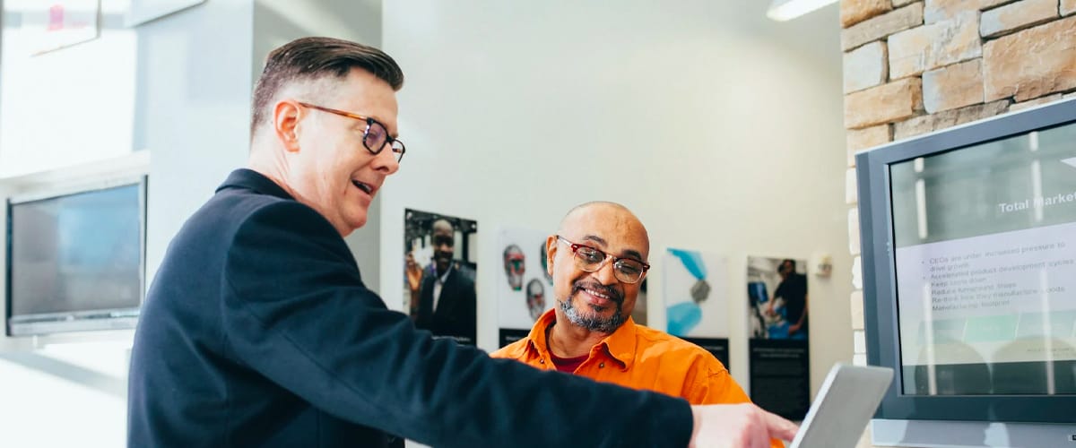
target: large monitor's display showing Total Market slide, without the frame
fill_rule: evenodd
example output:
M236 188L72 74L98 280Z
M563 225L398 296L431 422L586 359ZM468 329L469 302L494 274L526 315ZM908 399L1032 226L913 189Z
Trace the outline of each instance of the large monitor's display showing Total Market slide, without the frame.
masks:
M889 175L902 392L1076 394L1076 125Z

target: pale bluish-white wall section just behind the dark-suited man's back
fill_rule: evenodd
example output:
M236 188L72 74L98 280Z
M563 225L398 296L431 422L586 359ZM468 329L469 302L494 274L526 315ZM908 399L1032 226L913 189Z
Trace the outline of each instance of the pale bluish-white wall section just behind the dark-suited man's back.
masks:
M138 28L138 133L153 153L146 278L168 243L246 163L253 0L213 0Z

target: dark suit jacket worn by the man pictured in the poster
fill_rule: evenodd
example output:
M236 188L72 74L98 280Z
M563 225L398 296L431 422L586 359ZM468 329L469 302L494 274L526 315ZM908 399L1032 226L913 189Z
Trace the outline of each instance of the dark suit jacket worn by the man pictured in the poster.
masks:
M414 326L433 331L438 336L456 336L464 344L475 345L476 300L473 276L466 268L454 263L449 277L441 287L441 297L434 309L434 281L437 274L433 268L423 272L422 288L419 290L419 316Z

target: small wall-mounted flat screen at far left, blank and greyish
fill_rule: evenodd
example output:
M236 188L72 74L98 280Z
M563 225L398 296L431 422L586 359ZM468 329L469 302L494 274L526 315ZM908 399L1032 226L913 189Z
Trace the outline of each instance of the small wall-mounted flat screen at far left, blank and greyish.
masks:
M139 182L9 202L10 334L130 327L143 295L143 197Z

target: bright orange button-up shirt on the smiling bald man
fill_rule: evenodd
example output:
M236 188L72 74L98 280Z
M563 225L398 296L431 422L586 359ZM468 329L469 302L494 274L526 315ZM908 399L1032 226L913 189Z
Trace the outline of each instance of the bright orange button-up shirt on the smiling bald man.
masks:
M543 370L556 370L550 357L546 330L556 314L546 312L527 337L494 351L494 358L515 359ZM747 393L728 370L702 347L642 326L628 318L617 331L591 348L576 375L680 396L691 404L749 403ZM784 444L774 439L773 447Z

